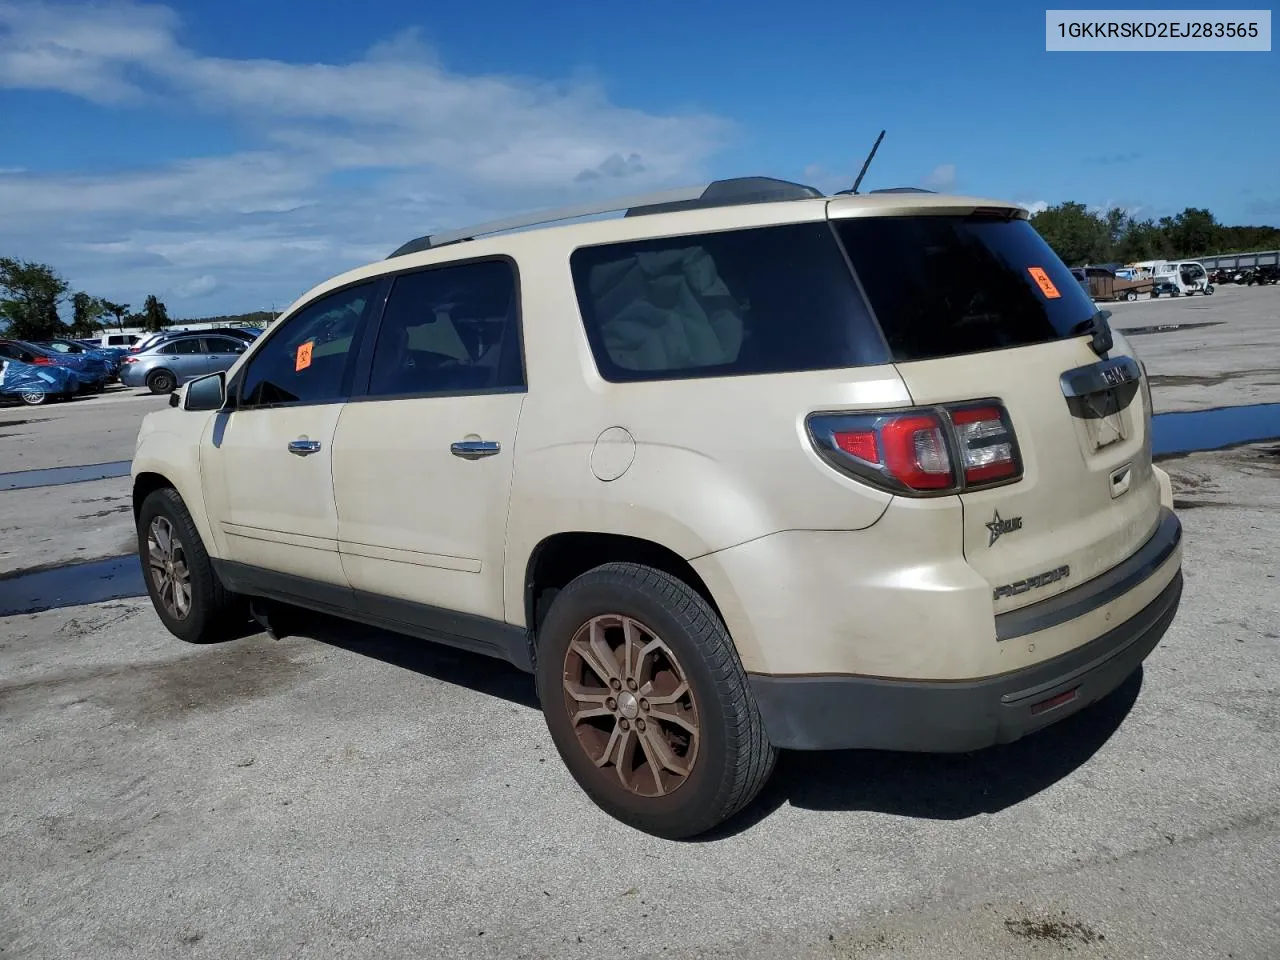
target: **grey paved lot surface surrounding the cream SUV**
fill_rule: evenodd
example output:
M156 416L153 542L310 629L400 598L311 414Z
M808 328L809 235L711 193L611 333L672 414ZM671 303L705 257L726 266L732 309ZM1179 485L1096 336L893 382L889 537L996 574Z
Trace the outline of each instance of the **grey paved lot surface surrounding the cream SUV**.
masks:
M1280 399L1280 288L1111 308L1222 323L1134 339L1217 378L1157 408ZM127 460L163 402L0 410L50 421L0 426L0 472ZM1165 466L1187 591L1125 687L966 756L787 754L701 842L599 813L500 663L319 618L188 646L145 600L0 618L0 956L1274 960L1280 444ZM127 511L74 500L122 495L0 490L0 575L116 552Z

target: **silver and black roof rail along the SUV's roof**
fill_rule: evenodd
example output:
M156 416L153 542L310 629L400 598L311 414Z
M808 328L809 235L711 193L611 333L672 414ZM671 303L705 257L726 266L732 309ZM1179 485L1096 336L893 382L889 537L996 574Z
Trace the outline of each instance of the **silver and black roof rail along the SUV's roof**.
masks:
M543 210L535 214L509 216L504 220L490 220L489 223L463 229L428 234L402 244L388 260L404 256L406 253L435 250L448 243L475 239L476 237L518 230L525 227L539 227L559 220L576 220L581 216L616 214L618 211L626 211L625 216L640 216L644 214L666 214L673 210L700 210L716 206L736 206L740 204L768 204L772 201L806 200L822 196L824 196L822 191L803 183L780 180L772 177L736 177L724 180L712 180L696 187L677 187L657 193L579 204L576 206L559 207L558 210Z

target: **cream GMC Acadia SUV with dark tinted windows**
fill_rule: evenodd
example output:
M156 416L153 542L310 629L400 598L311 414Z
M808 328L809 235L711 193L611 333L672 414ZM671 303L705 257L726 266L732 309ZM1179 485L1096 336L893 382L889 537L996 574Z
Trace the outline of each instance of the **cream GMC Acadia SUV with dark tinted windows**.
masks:
M1138 668L1183 584L1146 376L1025 210L762 178L607 209L413 241L150 415L164 625L255 598L506 659L666 837L780 749L984 748Z

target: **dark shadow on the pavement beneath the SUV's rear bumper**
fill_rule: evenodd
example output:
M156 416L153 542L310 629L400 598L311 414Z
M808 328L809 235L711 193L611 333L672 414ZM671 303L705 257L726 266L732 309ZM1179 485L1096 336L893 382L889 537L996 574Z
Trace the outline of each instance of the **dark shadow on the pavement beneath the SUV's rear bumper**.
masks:
M1084 765L1120 728L1140 690L1139 667L1110 695L1079 713L1012 744L968 754L783 751L760 796L695 842L748 831L783 804L933 820L1004 810Z

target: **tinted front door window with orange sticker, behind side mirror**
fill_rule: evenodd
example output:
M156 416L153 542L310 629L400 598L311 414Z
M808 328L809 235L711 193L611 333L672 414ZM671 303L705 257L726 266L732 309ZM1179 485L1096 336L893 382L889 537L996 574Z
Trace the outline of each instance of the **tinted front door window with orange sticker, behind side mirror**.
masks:
M248 361L239 406L342 399L375 289L375 283L348 287L311 302L285 320Z

